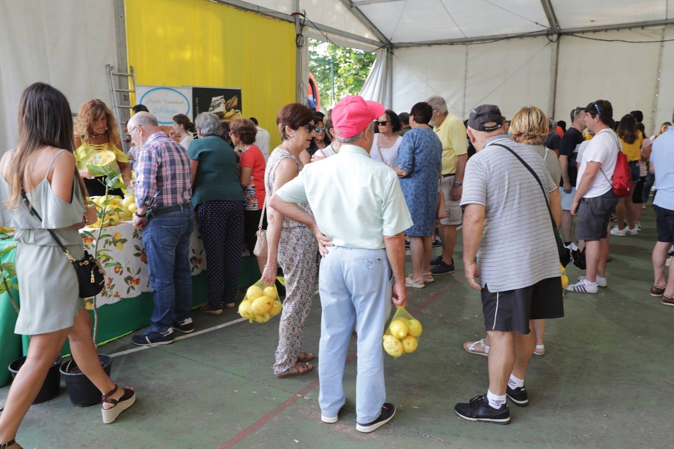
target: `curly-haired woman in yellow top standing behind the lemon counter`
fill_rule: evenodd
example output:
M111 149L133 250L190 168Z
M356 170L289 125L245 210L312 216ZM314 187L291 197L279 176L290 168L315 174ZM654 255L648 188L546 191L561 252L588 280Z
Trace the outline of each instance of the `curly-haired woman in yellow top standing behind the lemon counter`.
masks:
M94 99L82 104L75 118L74 133L75 161L89 195L105 195L105 178L92 175L87 169L89 165L113 166L121 172L125 184L130 184L129 158L121 149L115 117L104 102ZM123 196L123 193L121 189L113 189L110 195Z

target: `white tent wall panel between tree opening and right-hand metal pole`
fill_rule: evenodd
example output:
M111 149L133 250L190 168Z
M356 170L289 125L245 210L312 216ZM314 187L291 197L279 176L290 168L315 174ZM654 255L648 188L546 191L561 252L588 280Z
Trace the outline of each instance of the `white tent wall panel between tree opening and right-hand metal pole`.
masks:
M507 117L523 104L547 110L552 46L540 37L396 48L394 110L408 111L431 95L445 98L450 112L462 118L483 103L497 104Z

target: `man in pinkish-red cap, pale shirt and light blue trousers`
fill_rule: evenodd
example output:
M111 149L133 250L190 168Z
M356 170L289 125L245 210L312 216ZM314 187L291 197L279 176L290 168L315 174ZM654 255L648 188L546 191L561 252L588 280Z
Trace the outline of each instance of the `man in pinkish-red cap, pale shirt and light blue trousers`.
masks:
M386 403L381 335L391 303L407 304L403 231L412 218L398 176L370 159L373 120L384 106L359 96L332 110L340 152L305 166L270 199L283 215L314 230L321 251L321 421L336 423L344 405L344 364L354 323L358 334L356 429L371 432L392 419ZM313 217L299 208L308 201ZM326 248L329 246L330 248Z

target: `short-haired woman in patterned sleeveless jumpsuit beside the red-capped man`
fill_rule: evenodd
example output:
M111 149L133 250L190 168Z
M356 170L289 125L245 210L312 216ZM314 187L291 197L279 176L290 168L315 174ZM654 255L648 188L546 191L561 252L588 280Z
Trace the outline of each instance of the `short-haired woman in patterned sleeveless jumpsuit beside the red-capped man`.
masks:
M282 142L269 156L264 173L266 197L292 180L303 168L302 153L315 135L314 115L304 104L283 106L276 116ZM308 153L307 153L308 154ZM300 206L311 213L306 201ZM274 375L277 378L307 374L313 368L305 362L312 353L302 349L304 326L311 309L316 279L318 244L313 231L302 223L282 216L267 205L267 263L262 280L268 285L276 281L276 263L281 265L286 279L286 299L278 326L278 347Z

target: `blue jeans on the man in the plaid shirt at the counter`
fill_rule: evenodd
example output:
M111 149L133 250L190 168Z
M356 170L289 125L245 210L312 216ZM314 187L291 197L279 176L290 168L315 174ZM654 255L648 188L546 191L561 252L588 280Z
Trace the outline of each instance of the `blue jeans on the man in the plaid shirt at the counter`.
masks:
M192 209L150 217L143 229L154 300L152 332L164 332L171 327L171 320L189 317L192 308L189 238L193 229Z

